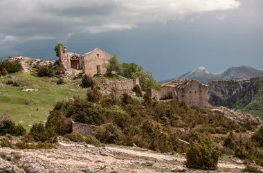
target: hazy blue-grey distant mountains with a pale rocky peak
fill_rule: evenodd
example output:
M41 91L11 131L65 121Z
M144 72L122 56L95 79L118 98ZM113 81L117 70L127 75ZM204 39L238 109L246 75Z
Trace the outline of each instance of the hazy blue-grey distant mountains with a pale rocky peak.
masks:
M257 76L263 76L263 71L254 69L251 66L232 66L221 74L210 73L203 66L200 66L193 71L189 71L188 73L180 75L179 77L172 78L170 80L163 80L160 83L169 82L171 80L183 80L187 78L189 80L199 80L199 82L207 84L211 80L230 80L240 78L253 78Z

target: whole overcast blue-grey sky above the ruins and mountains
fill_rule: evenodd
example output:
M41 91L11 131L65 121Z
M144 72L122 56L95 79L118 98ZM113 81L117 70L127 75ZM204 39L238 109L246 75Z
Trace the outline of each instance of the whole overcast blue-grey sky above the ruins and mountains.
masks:
M263 70L263 0L0 0L0 60L101 48L166 80L204 66Z

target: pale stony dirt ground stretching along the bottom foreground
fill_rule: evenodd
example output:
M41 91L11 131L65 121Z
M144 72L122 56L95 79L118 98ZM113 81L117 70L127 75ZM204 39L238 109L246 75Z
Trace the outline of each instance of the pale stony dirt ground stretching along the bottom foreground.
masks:
M174 167L182 167L185 161L183 155L160 154L139 147L98 148L65 141L58 143L57 149L0 148L0 153L20 155L19 161L10 161L10 164L27 172L171 172ZM221 172L240 172L244 165L220 161L218 167Z

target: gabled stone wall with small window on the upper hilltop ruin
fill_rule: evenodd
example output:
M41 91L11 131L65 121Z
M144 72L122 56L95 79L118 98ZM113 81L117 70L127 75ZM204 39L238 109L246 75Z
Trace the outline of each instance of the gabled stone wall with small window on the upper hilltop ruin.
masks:
M111 59L111 55L105 51L96 48L95 50L84 55L84 73L93 77L97 73L105 74L106 66Z

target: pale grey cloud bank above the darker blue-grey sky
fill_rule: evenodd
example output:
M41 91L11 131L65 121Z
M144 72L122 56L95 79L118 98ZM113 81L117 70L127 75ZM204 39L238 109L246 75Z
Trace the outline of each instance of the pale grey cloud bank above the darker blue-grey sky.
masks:
M165 24L193 13L239 6L237 0L0 0L0 46Z

